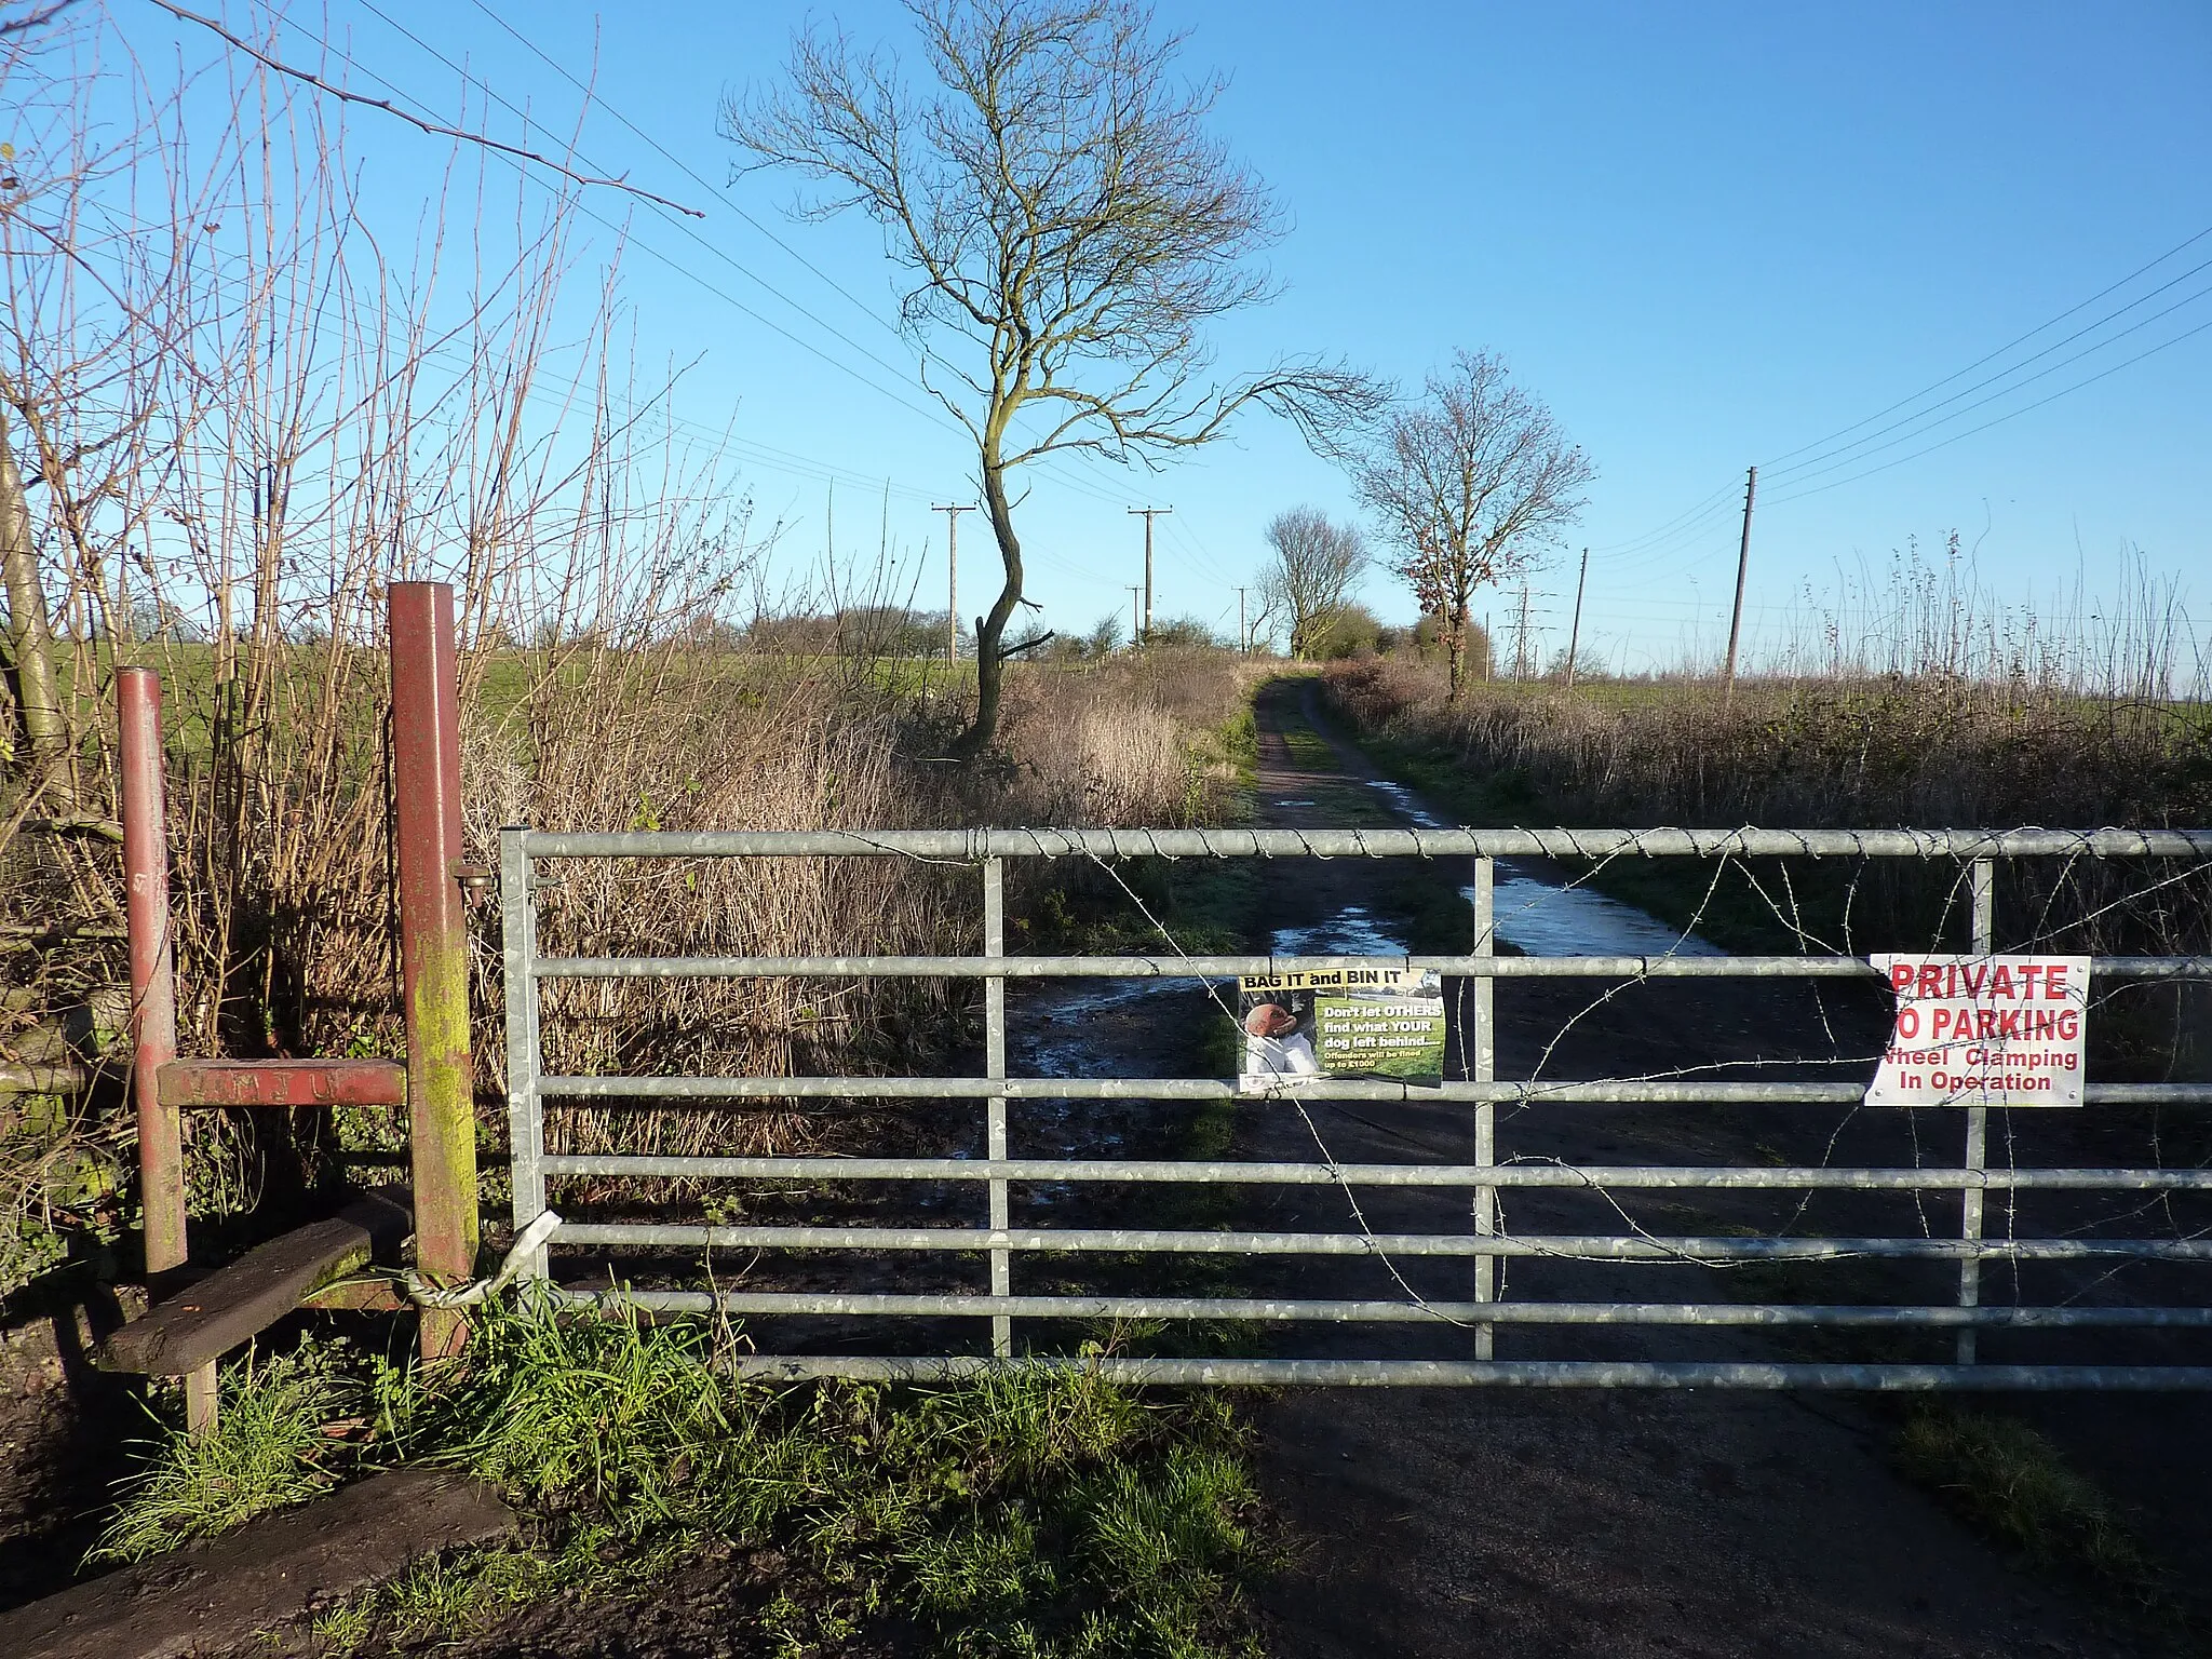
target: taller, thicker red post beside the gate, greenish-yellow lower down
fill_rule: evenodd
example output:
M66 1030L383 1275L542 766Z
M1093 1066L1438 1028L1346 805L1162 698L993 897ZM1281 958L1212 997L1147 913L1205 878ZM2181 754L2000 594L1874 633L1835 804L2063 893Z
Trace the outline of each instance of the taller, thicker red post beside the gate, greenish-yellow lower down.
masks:
M476 1093L469 1071L469 927L460 889L460 681L453 588L392 584L392 794L398 816L400 980L416 1265L476 1272ZM422 1310L422 1356L460 1349L462 1316Z

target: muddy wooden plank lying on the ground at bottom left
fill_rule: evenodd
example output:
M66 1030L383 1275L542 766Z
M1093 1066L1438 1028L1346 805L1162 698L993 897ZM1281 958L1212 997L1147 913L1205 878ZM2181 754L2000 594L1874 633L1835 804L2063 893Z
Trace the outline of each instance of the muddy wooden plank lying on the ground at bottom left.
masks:
M234 1533L0 1613L9 1659L186 1659L232 1652L418 1555L515 1531L480 1482L400 1469Z

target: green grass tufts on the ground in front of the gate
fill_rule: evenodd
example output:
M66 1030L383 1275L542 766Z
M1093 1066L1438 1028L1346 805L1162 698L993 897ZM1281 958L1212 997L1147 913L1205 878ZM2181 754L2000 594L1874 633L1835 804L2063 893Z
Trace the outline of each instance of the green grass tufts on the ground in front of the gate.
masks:
M790 1387L737 1378L737 1352L706 1321L507 1307L462 1367L334 1349L241 1367L217 1433L148 1447L104 1551L142 1559L341 1475L429 1464L495 1482L535 1542L323 1610L323 1650L440 1641L555 1588L639 1595L750 1551L781 1562L732 1615L765 1652L891 1632L962 1657L1252 1652L1241 1586L1267 1553L1225 1396L1139 1394L1082 1365Z

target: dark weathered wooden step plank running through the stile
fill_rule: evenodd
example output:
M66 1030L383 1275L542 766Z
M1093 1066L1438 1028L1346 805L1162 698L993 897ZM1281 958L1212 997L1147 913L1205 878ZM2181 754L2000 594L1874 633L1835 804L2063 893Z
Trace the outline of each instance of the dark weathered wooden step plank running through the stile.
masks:
M265 1332L323 1285L367 1267L378 1254L389 1256L411 1230L405 1190L369 1192L330 1221L254 1245L131 1321L102 1345L100 1363L142 1376L197 1371Z

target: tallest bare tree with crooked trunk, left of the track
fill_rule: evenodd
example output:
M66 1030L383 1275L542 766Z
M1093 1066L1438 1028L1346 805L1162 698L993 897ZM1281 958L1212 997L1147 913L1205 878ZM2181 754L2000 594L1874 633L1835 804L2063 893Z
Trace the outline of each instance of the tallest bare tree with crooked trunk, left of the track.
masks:
M1283 361L1214 378L1203 327L1270 296L1252 257L1281 234L1265 186L1208 137L1223 82L1172 75L1181 35L1130 0L909 0L936 84L838 31L792 42L787 86L723 106L754 166L814 186L796 210L860 208L911 288L922 385L975 442L1006 582L975 624L975 719L998 730L1022 597L1009 473L1060 451L1157 460L1250 403L1307 436L1371 411L1345 367Z

